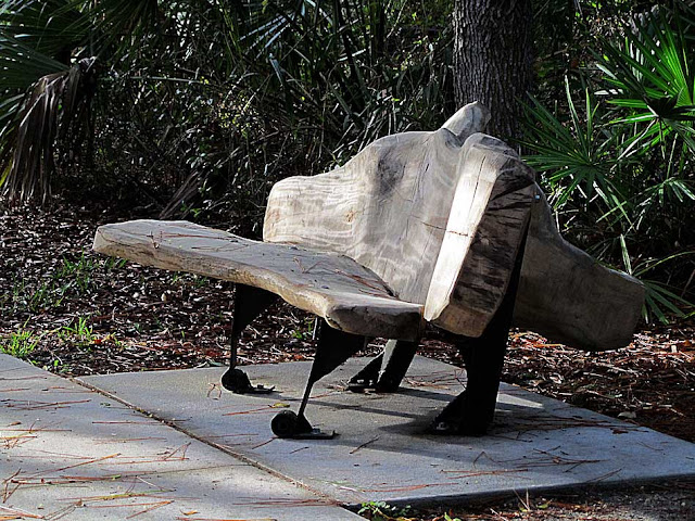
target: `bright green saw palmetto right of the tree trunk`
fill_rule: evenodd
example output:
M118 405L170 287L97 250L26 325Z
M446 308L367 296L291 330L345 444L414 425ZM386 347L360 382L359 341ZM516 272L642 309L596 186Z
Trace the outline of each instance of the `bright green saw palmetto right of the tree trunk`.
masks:
M621 259L643 279L645 314L662 321L691 306L687 288L677 291L668 280L695 274L690 27L678 11L635 20L621 41L603 40L598 74L583 76L583 103L567 81L564 106L552 112L532 100L528 111L528 161L556 209L594 254ZM649 280L658 270L660 280Z

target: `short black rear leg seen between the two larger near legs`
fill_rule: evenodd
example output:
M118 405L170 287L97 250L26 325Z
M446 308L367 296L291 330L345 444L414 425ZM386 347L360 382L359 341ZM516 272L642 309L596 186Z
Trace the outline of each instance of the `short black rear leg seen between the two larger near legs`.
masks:
M348 389L355 392L374 389L379 393L397 391L417 346L418 342L389 340L383 352L350 380Z

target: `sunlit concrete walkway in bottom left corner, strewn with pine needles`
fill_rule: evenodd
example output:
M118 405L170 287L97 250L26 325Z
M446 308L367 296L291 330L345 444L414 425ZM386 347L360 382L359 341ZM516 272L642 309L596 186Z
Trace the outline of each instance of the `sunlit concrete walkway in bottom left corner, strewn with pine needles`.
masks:
M3 354L0 480L2 520L362 519L289 479Z

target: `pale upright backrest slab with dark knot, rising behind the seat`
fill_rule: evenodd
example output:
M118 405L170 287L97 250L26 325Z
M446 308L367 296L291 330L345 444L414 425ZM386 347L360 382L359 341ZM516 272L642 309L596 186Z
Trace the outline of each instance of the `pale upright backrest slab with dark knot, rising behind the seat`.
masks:
M473 103L433 132L388 136L345 166L273 187L263 238L338 252L424 304L458 182L465 140L486 123Z

